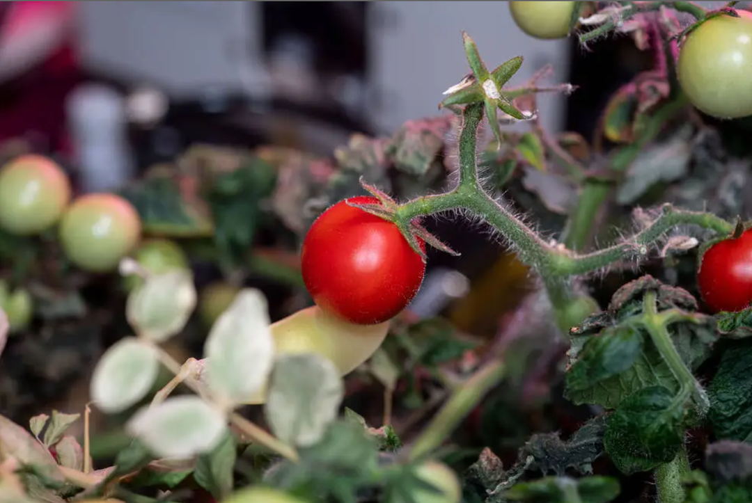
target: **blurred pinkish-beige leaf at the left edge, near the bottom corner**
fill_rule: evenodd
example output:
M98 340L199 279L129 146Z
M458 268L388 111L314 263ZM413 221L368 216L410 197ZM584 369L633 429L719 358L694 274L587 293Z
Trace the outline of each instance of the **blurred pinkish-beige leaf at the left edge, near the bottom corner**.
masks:
M26 429L7 417L0 416L0 463L11 458L16 459L20 465L35 468L50 480L63 480L50 451Z

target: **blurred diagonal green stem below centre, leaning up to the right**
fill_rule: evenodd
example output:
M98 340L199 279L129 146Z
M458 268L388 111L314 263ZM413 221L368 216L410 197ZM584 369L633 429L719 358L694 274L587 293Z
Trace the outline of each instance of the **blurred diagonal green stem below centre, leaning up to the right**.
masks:
M501 382L504 374L504 363L499 359L493 359L457 386L441 411L438 411L429 426L414 442L409 453L410 459L420 459L441 446L487 392Z

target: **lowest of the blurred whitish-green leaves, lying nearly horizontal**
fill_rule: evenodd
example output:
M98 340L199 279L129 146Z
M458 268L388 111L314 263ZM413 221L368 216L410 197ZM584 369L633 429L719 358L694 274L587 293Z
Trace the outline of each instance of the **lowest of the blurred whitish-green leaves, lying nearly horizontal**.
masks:
M222 441L226 431L224 415L202 398L191 395L142 408L126 424L129 435L165 458L208 453Z

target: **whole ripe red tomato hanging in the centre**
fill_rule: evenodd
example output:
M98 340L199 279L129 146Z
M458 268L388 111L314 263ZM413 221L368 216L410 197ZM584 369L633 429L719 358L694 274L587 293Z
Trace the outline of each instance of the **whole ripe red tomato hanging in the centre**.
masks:
M420 246L426 245L420 241ZM344 201L324 211L303 242L308 292L320 308L350 323L372 325L395 317L420 289L425 272L423 259L393 223Z

